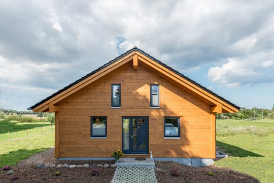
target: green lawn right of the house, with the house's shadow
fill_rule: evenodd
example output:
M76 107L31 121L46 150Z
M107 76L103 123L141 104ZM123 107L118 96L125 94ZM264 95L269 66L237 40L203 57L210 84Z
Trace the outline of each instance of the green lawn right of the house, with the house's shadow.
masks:
M231 129L238 133L226 133ZM217 120L217 134L225 132L217 135L217 146L230 156L215 164L247 173L261 182L274 182L273 129L274 123L270 122Z

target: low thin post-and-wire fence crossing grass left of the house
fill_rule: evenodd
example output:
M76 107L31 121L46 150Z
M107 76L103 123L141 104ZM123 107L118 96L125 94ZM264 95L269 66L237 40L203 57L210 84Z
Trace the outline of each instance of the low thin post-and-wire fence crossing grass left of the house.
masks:
M0 142L9 142L22 138L30 138L39 135L49 135L54 134L54 126L46 127L35 127L29 129L14 129L13 131L8 131L7 133L0 134Z

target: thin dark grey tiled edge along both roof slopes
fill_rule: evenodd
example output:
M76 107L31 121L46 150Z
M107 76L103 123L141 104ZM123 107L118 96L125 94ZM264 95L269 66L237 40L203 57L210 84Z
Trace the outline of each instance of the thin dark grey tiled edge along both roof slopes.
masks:
M218 99L224 101L225 103L228 103L229 105L235 107L235 108L238 109L238 110L241 109L241 107L238 107L237 105L235 105L235 104L229 102L228 100L224 99L223 97L221 97L221 96L215 94L214 92L212 92L212 91L209 90L208 88L206 88L206 87L202 86L201 84L195 82L194 80L192 80L192 79L186 77L186 76L183 75L182 73L180 73L180 72L176 71L175 69L173 69L173 68L167 66L166 64L162 63L160 60L154 58L153 56L149 55L149 54L146 53L145 51L143 51L143 50L141 50L141 49L139 49L139 48L137 48L137 47L135 47L135 46L134 46L132 49L126 51L126 52L123 53L123 54L121 54L120 56L114 58L113 60L110 60L110 62L108 62L108 63L104 64L103 66L97 68L96 70L92 71L91 73L85 75L84 77L82 77L82 78L80 78L80 79L74 81L73 83L71 83L71 84L65 86L64 88L58 90L58 92L52 94L51 96L47 97L46 99L44 99L44 100L38 102L37 104L35 104L35 105L29 107L29 109L34 109L34 108L36 108L37 106L39 106L39 105L43 104L44 102L50 100L51 98L55 97L56 95L58 95L58 94L64 92L64 90L66 90L66 89L68 89L68 88L74 86L75 84L79 83L80 81L82 81L82 80L88 78L89 76L91 76L91 75L97 73L97 72L100 71L101 69L106 68L107 66L111 65L112 63L116 62L117 60L119 60L120 58L126 56L127 54L130 54L130 53L133 52L133 51L138 51L138 52L144 54L145 56L147 56L147 57L149 57L150 59L152 59L154 62L156 62L156 63L160 64L161 66L165 67L166 69L168 69L168 70L170 70L170 71L176 73L176 74L179 75L180 77L182 77L182 78L188 80L189 82L195 84L195 85L198 86L199 88L201 88L201 89L205 90L206 92L212 94L213 96L215 96L215 97L217 97Z

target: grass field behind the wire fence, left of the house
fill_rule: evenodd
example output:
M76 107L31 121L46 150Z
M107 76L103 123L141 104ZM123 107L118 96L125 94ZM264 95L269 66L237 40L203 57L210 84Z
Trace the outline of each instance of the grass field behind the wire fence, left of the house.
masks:
M37 136L42 134L50 134L54 131L50 128L50 123L39 122L39 123L19 123L18 121L9 121L0 119L0 142L8 140L8 132L10 132L10 140L18 138L26 138L28 129L28 136Z

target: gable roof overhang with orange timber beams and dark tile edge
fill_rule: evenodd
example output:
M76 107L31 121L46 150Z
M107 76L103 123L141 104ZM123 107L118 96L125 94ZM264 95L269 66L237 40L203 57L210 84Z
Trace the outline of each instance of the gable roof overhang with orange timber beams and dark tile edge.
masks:
M80 89L97 81L98 79L107 76L109 73L115 71L124 64L132 62L133 69L136 70L138 69L138 63L140 62L145 66L149 67L150 69L154 70L155 72L161 74L164 78L172 81L181 88L187 90L189 93L210 104L212 106L212 112L234 113L239 110L239 107L233 104L231 105L230 102L222 100L223 98L219 97L218 95L212 93L211 91L209 92L209 90L204 89L204 87L201 87L201 85L195 83L189 78L186 78L185 76L182 77L182 75L179 75L178 73L174 72L171 68L160 63L158 60L156 61L153 57L149 56L148 54L143 54L139 51L139 49L134 50L133 48L133 51L130 51L129 53L118 57L118 59L112 60L112 63L110 63L106 67L101 68L100 70L92 73L90 76L86 77L85 79L79 82L77 81L76 83L71 84L69 87L60 90L61 92L58 92L53 96L50 96L49 98L41 101L40 103L30 108L35 112L59 111L60 108L58 106L55 106L56 103L76 93Z

